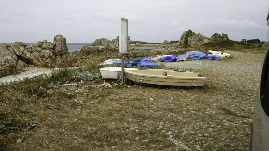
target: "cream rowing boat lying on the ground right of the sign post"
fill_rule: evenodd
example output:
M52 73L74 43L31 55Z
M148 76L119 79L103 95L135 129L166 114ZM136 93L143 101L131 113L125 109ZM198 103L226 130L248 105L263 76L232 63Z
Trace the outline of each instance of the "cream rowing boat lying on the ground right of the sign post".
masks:
M125 78L135 84L153 87L204 86L206 78L199 73L179 70L124 70Z

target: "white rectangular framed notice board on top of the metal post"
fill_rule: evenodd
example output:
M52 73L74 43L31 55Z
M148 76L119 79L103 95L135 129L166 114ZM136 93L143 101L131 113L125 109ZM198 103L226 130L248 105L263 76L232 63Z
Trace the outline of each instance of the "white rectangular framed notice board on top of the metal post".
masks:
M128 19L119 18L119 53L128 53Z

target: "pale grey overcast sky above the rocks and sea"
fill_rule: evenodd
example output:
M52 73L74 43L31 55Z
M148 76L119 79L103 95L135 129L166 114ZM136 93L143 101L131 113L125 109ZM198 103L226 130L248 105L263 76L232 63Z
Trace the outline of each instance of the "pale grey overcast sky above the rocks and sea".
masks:
M188 29L264 41L268 6L268 0L1 0L0 42L53 42L57 34L67 42L112 40L119 35L119 17L129 20L133 41L180 40Z

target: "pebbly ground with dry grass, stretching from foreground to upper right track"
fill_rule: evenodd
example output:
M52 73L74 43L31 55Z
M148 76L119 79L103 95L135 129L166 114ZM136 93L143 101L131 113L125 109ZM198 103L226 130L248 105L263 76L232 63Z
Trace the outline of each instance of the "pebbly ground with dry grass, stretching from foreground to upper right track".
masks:
M206 76L201 89L60 87L77 96L32 104L40 127L5 136L23 138L10 150L249 150L262 55L225 51L187 69Z

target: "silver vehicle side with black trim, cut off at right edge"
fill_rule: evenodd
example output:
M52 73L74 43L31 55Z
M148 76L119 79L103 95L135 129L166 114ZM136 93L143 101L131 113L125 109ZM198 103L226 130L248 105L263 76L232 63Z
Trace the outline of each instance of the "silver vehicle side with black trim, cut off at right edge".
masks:
M269 26L269 9L266 16ZM269 29L269 28L268 28ZM264 42L262 76L258 86L251 130L251 151L269 150L269 30Z

